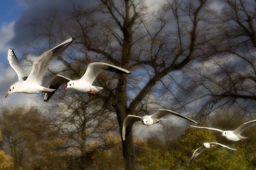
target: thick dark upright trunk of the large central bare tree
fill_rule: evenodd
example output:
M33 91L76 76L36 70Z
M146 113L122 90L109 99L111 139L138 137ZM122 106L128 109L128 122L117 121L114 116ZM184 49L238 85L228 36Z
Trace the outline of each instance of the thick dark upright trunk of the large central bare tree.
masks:
M123 32L123 44L122 44L122 61L121 67L128 68L128 64L131 58L131 47L133 42L132 26L134 21L130 18L129 14L129 0L125 0L125 19L122 26ZM122 124L123 120L128 114L127 113L127 91L126 91L126 75L120 75L118 80L118 91L117 91L117 103L119 105L118 123L120 129L120 135L122 136ZM135 169L135 150L133 144L132 133L127 137L125 141L122 141L123 156L125 161L125 170Z

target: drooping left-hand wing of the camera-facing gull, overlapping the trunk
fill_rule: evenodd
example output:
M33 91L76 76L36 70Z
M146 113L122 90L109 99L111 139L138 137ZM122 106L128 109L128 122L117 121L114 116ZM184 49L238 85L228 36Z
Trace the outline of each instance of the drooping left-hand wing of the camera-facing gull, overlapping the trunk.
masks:
M123 127L122 127L122 138L123 141L127 138L127 136L130 134L133 128L133 124L137 121L139 121L141 117L134 116L134 115L128 115L123 120Z

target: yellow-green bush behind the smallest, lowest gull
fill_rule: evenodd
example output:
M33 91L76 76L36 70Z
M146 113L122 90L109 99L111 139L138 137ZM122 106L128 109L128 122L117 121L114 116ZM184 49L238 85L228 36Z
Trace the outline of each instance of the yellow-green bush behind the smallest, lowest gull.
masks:
M175 170L250 170L254 166L249 164L246 156L252 146L248 142L221 142L237 151L215 146L206 149L199 154L193 163L189 160L193 152L204 142L217 142L216 134L211 130L189 128L183 136L180 136L173 144L171 151L175 164L170 169ZM248 148L247 148L248 147ZM255 149L254 149L255 150ZM250 156L252 159L256 156L255 152Z

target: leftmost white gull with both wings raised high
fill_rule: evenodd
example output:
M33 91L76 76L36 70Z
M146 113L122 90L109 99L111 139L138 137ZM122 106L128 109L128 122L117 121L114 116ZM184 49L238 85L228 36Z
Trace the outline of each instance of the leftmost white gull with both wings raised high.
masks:
M16 57L14 51L12 49L9 49L8 61L10 66L17 73L19 81L9 87L8 93L5 95L5 98L7 98L12 93L34 94L40 92L49 93L54 91L55 89L45 88L41 86L42 78L45 75L50 62L62 51L64 51L72 42L73 38L69 38L58 46L54 47L53 49L41 54L39 58L37 58L33 62L29 75L20 66L19 60Z

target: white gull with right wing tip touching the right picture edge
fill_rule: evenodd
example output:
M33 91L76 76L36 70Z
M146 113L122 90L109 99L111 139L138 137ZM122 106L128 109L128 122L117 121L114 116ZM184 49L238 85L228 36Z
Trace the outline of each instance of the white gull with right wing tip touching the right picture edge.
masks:
M245 129L247 129L251 124L253 124L255 122L256 122L256 120L245 122L244 124L238 126L233 131L224 131L224 130L217 129L217 128L212 128L212 127L201 127L201 126L193 126L193 125L190 125L190 126L195 127L195 128L204 128L204 129L211 129L211 130L219 131L219 132L222 133L221 136L226 137L226 139L228 139L230 141L235 141L236 142L236 141L248 138L248 137L241 136L241 133Z

